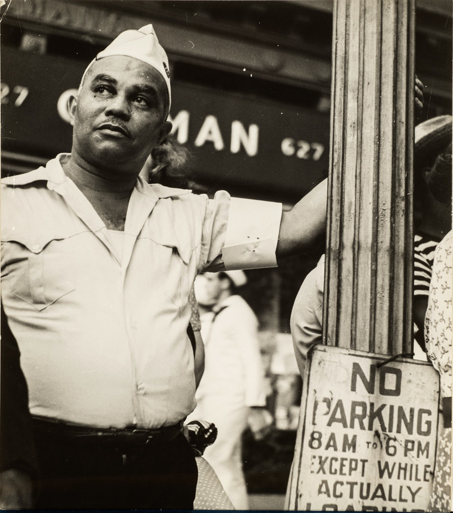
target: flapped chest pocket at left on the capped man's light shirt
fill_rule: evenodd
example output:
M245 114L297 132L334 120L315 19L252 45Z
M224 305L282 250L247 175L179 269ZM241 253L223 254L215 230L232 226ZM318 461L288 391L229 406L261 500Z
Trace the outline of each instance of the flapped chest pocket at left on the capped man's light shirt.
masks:
M49 236L4 241L4 292L44 310L74 291L75 270L68 246L66 238Z

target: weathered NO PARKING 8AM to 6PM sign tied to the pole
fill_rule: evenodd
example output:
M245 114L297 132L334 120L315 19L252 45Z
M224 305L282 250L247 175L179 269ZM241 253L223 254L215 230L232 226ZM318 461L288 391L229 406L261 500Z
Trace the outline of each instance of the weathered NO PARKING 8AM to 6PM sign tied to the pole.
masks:
M306 374L289 508L425 511L439 377L425 362L320 346Z

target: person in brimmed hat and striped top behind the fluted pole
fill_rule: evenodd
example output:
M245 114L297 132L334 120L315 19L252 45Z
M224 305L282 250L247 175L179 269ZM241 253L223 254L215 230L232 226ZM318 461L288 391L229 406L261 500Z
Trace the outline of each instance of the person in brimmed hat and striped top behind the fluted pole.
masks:
M451 230L451 116L416 126L414 140L414 352L426 359L424 320L436 246Z

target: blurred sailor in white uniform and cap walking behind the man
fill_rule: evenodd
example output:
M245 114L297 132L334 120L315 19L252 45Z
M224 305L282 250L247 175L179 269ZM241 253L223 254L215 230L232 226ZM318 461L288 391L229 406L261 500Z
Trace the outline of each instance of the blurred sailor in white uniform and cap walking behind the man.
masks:
M256 436L269 428L267 386L258 340L258 320L238 290L242 271L203 273L195 280L200 306L205 371L196 392L197 407L188 419L209 419L217 440L204 457L214 468L236 509L248 509L242 471L242 433Z

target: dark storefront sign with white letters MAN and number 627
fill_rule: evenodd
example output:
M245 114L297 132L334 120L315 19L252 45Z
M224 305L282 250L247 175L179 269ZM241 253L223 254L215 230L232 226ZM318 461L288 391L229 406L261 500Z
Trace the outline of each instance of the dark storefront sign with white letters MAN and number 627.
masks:
M85 65L2 49L4 150L49 158L70 151L67 99ZM181 82L172 91L173 134L213 188L237 184L300 196L327 176L325 113Z

